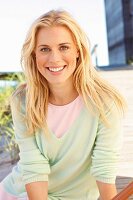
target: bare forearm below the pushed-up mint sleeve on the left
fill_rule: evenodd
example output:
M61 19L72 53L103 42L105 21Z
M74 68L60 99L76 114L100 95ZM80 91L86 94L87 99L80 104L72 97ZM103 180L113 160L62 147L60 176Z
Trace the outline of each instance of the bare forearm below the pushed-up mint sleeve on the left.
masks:
M48 182L38 181L26 184L26 191L29 200L47 200Z

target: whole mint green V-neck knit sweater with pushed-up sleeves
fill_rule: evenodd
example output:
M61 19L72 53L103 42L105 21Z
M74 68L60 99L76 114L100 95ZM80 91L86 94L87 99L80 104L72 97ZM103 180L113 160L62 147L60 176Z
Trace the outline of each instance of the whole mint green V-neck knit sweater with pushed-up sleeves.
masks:
M24 99L20 103L24 113ZM112 112L106 111L109 128L99 114L93 115L84 106L61 138L52 131L47 138L42 130L27 137L16 105L17 98L12 103L12 116L20 160L2 181L8 193L25 197L26 183L48 181L48 200L96 200L96 180L115 183L122 126L114 103L110 105Z

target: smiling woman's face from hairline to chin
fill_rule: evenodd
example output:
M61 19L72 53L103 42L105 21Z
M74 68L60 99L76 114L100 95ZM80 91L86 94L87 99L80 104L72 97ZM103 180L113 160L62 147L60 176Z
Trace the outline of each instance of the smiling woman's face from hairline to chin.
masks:
M37 68L48 83L72 82L79 55L71 32L66 27L41 28L37 33L35 55Z

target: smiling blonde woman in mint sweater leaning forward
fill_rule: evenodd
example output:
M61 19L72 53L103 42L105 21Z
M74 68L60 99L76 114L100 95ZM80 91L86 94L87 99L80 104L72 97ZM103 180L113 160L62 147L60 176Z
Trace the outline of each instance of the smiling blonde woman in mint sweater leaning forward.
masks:
M11 101L20 160L0 200L113 198L125 103L93 68L85 33L52 10L31 26L22 61Z

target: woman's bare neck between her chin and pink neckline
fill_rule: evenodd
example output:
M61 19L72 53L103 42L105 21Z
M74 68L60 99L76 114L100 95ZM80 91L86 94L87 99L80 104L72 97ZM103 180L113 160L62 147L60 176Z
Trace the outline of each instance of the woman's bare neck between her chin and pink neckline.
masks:
M50 86L49 102L54 105L66 105L78 96L72 84L57 84Z

